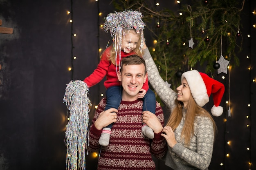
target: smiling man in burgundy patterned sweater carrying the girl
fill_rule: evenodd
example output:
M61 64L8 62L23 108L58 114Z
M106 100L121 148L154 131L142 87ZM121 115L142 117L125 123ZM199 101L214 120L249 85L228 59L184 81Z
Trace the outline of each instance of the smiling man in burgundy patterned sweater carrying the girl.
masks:
M162 128L152 127L155 133L153 139L141 132L143 101L138 95L148 76L145 61L137 55L125 57L117 75L123 88L121 104L118 110L110 108L104 111L106 99L101 100L89 131L88 151L94 152L101 147L99 137L102 128L115 122L109 145L101 147L97 170L155 170L151 153L156 158L163 157L166 141L160 135ZM163 110L158 103L155 117L160 121L156 123L163 126Z

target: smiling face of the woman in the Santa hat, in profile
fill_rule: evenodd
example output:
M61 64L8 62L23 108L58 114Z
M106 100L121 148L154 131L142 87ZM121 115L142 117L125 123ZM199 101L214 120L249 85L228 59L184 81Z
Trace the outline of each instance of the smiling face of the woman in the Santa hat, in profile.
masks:
M186 79L182 79L181 85L176 88L177 90L177 100L183 102L184 107L189 103L189 98L191 96L191 91L189 84Z

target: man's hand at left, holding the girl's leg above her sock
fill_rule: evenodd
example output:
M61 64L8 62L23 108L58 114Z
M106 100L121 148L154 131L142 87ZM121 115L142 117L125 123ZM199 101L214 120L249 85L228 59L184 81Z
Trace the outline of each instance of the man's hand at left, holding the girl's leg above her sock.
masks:
M99 114L98 119L94 122L95 128L101 130L102 128L108 126L117 121L117 112L115 108L110 108Z

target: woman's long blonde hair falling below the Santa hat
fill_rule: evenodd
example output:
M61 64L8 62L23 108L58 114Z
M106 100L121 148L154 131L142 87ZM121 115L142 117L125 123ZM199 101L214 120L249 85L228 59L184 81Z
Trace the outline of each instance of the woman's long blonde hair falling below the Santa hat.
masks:
M183 103L178 101L177 99L175 100L175 102L176 102L176 107L173 109L171 116L169 117L166 124L166 126L171 126L173 131L180 124L180 121L182 119L183 106L184 106ZM214 135L216 134L217 126L215 124L215 121L213 120L209 112L207 112L207 110L198 106L195 103L195 100L193 99L192 95L190 96L189 103L185 109L186 109L186 117L184 121L184 126L182 128L181 137L184 138L184 143L186 146L189 146L191 135L194 133L195 116L209 117L209 119L211 119L213 123Z

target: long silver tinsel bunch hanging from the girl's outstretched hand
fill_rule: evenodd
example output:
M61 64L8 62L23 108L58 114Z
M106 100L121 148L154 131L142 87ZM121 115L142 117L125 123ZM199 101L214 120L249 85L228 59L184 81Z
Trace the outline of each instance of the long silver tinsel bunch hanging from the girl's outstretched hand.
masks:
M67 84L63 103L70 110L66 126L65 144L67 146L66 170L85 170L85 149L88 144L89 126L89 88L81 80Z

